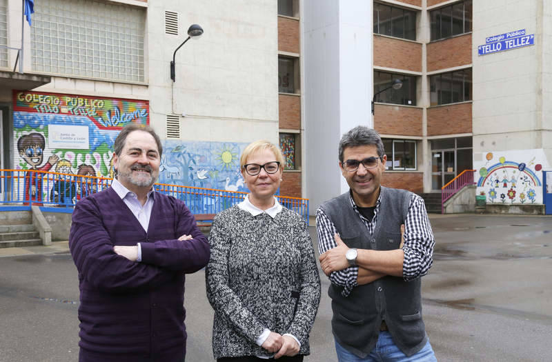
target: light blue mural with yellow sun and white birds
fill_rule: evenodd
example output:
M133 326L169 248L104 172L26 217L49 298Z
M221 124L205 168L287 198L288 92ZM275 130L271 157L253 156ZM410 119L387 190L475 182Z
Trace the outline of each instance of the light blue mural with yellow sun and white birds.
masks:
M239 156L248 143L165 140L159 183L244 191Z

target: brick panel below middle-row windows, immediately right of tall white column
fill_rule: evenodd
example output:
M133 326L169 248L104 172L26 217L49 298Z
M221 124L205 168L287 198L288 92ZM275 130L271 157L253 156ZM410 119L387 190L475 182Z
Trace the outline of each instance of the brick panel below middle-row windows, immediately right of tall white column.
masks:
M374 129L382 134L422 136L422 108L374 105Z

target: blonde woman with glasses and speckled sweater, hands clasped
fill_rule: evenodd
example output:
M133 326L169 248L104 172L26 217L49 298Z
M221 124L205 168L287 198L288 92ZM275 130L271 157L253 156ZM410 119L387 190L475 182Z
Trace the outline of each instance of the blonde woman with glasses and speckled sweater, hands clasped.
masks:
M217 214L209 236L206 286L215 310L215 359L303 361L320 301L311 237L304 219L274 197L282 152L255 141L240 165L249 193Z

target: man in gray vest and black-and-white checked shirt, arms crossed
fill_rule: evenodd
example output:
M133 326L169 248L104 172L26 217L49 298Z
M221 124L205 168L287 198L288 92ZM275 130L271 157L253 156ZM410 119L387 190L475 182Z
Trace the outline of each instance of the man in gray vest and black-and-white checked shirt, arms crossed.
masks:
M344 134L339 168L350 190L316 212L337 358L437 361L422 321L420 283L435 239L421 197L380 185L386 159L375 130L357 126Z

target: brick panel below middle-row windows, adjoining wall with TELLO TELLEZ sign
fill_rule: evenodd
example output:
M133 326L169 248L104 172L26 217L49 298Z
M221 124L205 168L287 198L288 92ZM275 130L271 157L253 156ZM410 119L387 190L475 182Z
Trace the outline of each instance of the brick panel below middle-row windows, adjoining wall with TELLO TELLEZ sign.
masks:
M471 133L471 109L471 102L428 108L427 135Z

